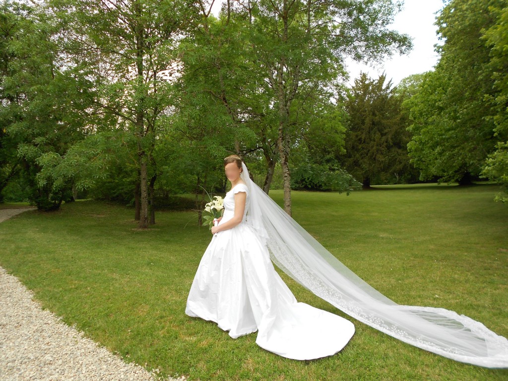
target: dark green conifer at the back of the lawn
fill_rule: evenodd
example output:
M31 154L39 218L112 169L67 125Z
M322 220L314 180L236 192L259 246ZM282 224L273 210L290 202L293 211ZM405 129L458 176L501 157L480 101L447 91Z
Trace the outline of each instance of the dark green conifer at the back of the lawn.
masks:
M371 183L411 179L406 145L407 118L402 110L404 91L397 93L383 74L377 80L365 73L355 80L345 104L350 125L346 133L344 166L364 188Z

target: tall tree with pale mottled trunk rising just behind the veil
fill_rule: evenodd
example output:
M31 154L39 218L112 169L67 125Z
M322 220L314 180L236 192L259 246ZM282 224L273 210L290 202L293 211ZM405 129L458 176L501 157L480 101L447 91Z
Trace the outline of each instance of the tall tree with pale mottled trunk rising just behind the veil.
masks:
M264 91L277 111L284 210L291 215L290 156L300 129L299 108L312 103L316 91L340 81L345 56L379 59L393 50L405 52L410 43L387 28L401 6L392 1L259 0L242 5L251 49L264 71Z

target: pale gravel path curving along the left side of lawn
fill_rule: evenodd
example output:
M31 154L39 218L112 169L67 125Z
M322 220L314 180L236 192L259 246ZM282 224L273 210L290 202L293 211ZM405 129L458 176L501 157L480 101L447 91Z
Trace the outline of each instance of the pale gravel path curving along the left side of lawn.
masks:
M0 210L0 221L27 209ZM7 211L7 212L6 212ZM16 212L14 212L16 211ZM43 310L34 294L0 267L0 379L2 381L154 381L60 317ZM182 376L178 379L185 380Z

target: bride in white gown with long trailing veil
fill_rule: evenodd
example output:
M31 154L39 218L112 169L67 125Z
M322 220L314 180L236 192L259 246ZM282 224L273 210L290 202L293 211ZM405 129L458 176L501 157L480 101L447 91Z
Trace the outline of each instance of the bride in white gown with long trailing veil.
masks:
M258 331L259 346L291 359L341 351L355 333L353 323L298 302L273 261L315 295L375 329L453 360L508 367L506 338L454 311L388 299L250 180L240 157L226 157L224 166L231 190L190 287L187 315L217 323L232 338Z

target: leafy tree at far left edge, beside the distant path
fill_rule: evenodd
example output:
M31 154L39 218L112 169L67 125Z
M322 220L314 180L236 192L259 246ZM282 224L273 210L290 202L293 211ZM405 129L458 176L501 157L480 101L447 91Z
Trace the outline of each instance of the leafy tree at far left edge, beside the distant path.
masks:
M40 210L54 210L72 200L72 183L55 184L37 177L42 157L64 154L83 138L76 115L89 105L86 86L62 70L54 42L58 29L40 8L21 3L4 5L2 40L2 172L19 169L26 197ZM8 142L8 143L7 143ZM7 151L9 152L9 151Z

